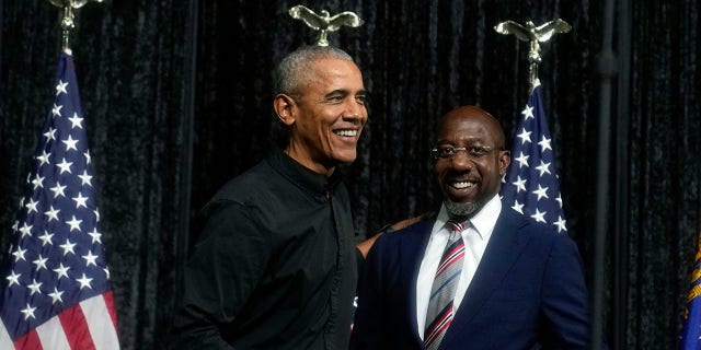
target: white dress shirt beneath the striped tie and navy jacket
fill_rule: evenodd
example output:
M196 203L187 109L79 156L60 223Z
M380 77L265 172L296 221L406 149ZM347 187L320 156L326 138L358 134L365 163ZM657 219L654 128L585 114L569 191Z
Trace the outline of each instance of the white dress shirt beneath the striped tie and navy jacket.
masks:
M484 249L486 249L501 211L502 200L498 195L495 195L487 201L482 210L470 219L471 224L466 224L468 229L461 232L462 241L464 242L464 262L460 281L458 282L458 289L456 290L456 296L452 302L452 308L456 313L460 306L460 302L462 302L464 292L468 290L468 287L470 287L474 272L478 270L480 260L482 260L482 255L484 255ZM426 310L428 308L430 288L434 283L438 264L440 264L443 250L446 248L448 236L450 235L450 229L446 228L448 219L450 218L444 205L440 207L436 223L430 231L430 237L428 238L426 252L424 252L416 280L416 322L418 325L418 336L421 336L422 339L424 339Z

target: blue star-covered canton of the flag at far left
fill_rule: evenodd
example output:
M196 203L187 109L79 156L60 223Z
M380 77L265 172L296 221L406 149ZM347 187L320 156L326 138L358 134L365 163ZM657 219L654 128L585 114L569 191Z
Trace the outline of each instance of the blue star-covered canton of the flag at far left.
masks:
M12 339L110 290L87 143L73 60L62 54L2 280Z

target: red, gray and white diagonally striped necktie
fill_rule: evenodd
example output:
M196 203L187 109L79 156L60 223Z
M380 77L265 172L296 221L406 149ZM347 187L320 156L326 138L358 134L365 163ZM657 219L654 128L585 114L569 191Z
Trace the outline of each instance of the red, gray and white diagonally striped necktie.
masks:
M452 322L452 300L458 289L464 259L464 243L460 234L464 223L448 220L446 225L450 230L450 237L436 271L426 312L424 346L429 350L438 349Z

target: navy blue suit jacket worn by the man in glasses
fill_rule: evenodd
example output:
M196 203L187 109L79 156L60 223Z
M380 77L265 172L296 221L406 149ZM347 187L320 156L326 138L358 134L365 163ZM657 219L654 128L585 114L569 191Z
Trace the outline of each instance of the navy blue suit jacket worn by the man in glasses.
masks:
M423 349L416 277L435 218L380 236L358 284L352 349ZM430 285L422 288L430 289ZM588 293L576 244L503 209L441 349L585 349Z

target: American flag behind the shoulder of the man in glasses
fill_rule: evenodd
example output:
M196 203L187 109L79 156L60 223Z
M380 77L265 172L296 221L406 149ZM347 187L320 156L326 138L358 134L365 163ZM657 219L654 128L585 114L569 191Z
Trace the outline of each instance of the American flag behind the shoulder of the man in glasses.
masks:
M502 201L512 210L554 225L559 233L565 233L567 229L555 155L540 97L540 85L533 89L521 115L512 147L512 164L499 191Z

